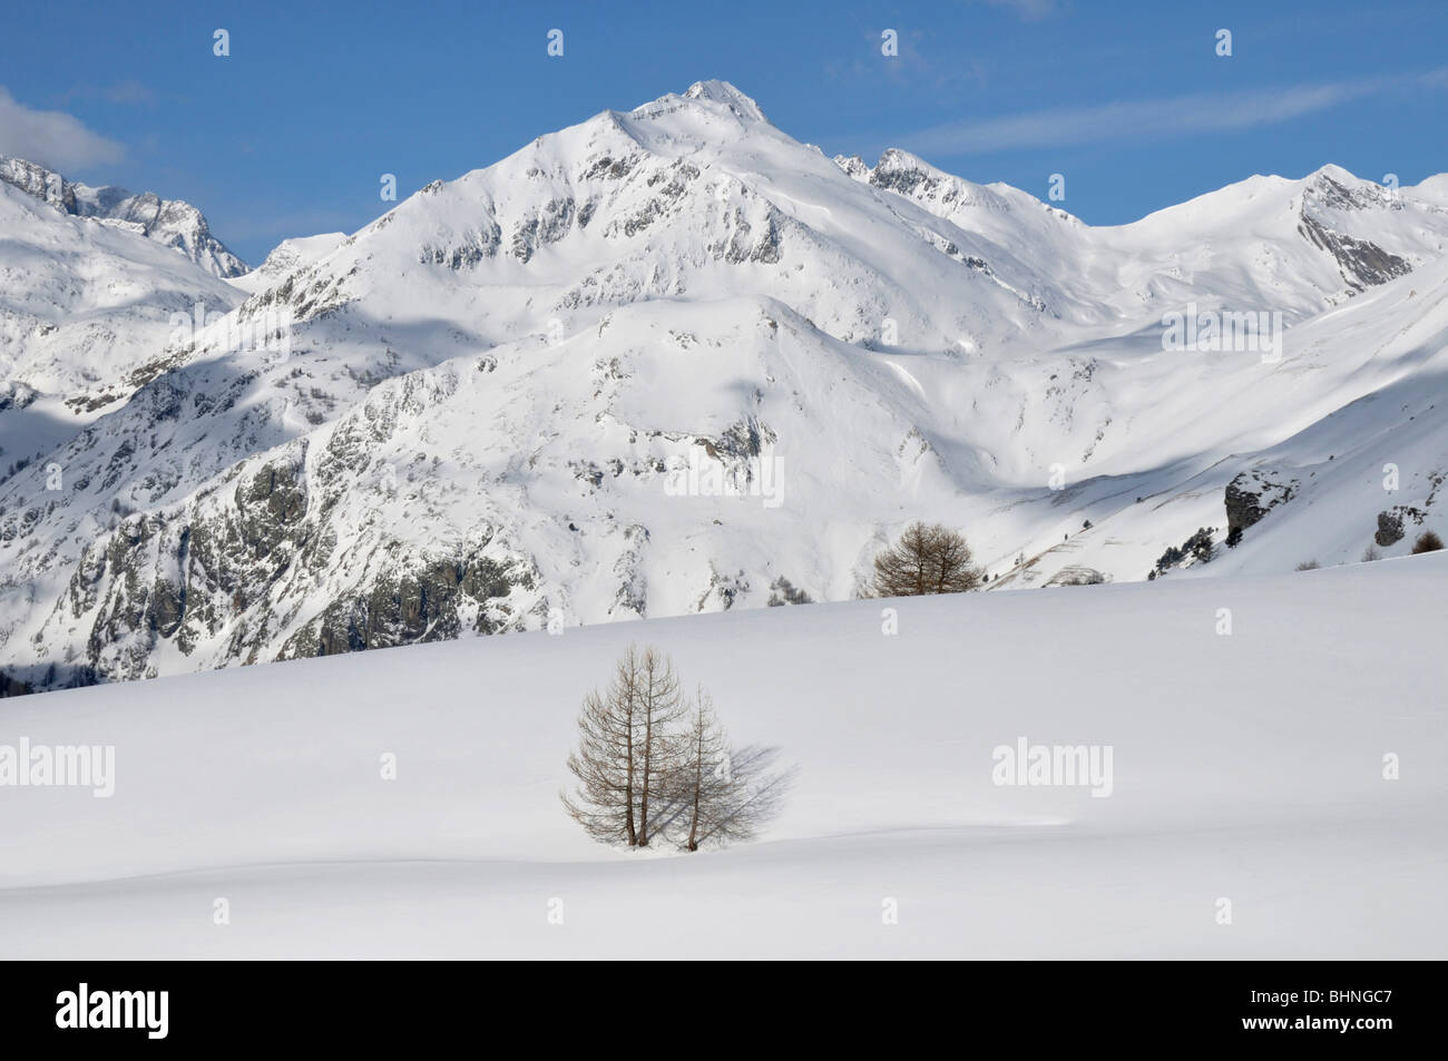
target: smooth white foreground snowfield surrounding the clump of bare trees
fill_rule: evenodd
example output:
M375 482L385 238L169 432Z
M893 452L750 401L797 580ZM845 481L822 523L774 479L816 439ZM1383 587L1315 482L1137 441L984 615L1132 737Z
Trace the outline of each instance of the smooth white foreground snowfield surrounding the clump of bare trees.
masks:
M1441 960L1445 593L1432 554L6 701L0 744L114 745L116 789L0 789L0 955ZM565 815L579 699L631 641L798 767L760 841L626 854ZM1109 748L1111 795L995 785L1021 738Z

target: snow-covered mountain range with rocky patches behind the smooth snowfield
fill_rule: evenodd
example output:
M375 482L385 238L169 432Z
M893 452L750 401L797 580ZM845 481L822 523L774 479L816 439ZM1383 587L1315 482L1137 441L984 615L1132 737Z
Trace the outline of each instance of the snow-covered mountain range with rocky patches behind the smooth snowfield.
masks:
M0 482L0 666L48 688L841 599L915 518L992 589L1156 576L1203 527L1211 563L1169 578L1357 560L1380 514L1402 553L1448 531L1445 187L1326 166L1092 227L905 152L830 159L720 81L216 289L0 187L138 262L155 318L216 310L71 362L85 415ZM70 320L67 276L28 313ZM1199 334L1242 314L1261 336Z

